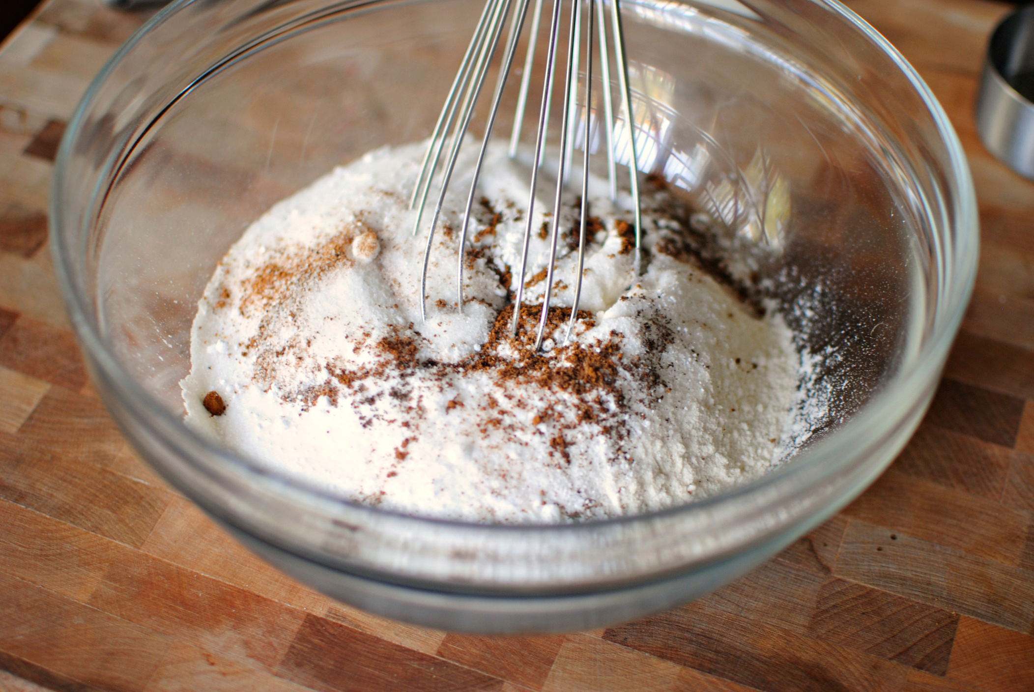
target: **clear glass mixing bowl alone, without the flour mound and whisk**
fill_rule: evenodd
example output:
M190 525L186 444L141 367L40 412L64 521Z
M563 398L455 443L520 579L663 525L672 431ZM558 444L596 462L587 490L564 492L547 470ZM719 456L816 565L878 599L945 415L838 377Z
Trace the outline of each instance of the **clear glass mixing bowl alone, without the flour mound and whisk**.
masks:
M753 258L813 356L805 384L826 405L797 412L783 465L648 515L475 525L349 503L187 429L179 381L215 264L334 166L427 137L479 11L474 0L175 3L108 63L67 128L54 258L128 439L272 564L432 627L598 627L746 573L890 463L972 289L974 192L930 90L839 3L626 0L640 169Z

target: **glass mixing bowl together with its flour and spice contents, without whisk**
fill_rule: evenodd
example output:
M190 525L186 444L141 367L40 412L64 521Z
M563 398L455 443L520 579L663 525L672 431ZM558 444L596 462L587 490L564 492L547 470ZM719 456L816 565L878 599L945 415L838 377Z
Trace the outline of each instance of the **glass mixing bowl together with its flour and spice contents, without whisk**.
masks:
M890 462L971 291L973 190L929 90L840 5L625 2L640 251L631 158L611 202L595 156L568 340L580 189L528 213L534 156L491 144L460 313L470 154L426 292L396 198L479 11L162 11L68 127L55 260L128 439L273 564L434 627L597 627L728 582ZM561 123L555 106L553 142ZM604 146L596 129L573 159Z

